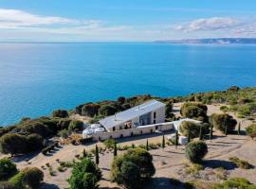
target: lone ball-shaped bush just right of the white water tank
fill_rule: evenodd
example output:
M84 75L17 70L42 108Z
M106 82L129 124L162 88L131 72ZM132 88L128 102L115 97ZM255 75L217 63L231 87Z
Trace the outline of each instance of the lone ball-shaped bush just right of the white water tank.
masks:
M186 157L192 163L201 163L202 159L208 153L208 146L203 141L192 141L186 148Z

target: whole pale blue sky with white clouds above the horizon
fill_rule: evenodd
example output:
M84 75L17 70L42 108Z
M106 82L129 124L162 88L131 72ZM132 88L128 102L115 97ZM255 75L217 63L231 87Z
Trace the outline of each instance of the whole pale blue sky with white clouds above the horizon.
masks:
M0 42L256 37L255 0L0 0Z

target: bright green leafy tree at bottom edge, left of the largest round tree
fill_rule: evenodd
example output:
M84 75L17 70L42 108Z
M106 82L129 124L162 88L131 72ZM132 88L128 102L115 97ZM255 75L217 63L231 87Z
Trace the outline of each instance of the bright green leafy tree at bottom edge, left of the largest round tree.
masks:
M100 168L89 158L84 158L73 166L71 177L68 179L70 189L98 189L101 180Z

